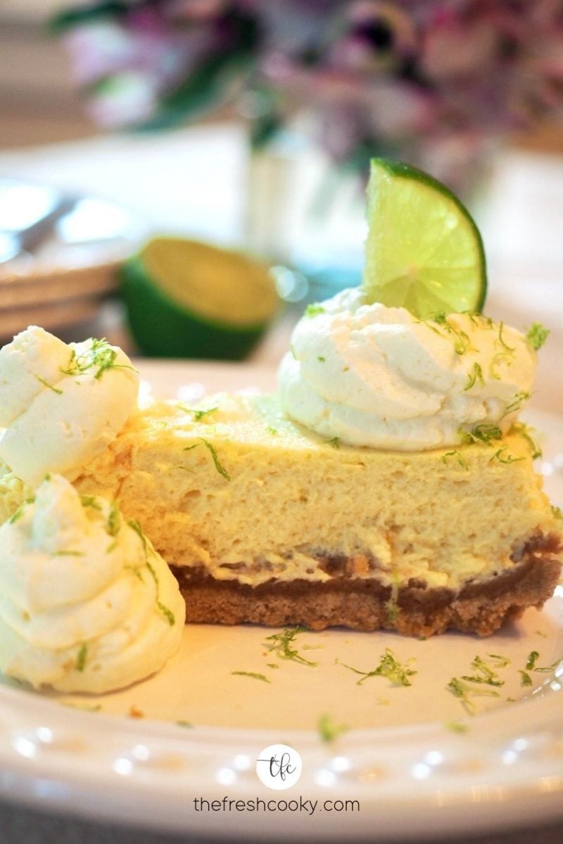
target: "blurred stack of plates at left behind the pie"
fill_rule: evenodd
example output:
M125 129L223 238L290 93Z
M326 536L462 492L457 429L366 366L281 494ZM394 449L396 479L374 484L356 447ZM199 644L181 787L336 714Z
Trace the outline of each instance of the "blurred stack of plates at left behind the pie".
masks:
M97 197L0 177L0 342L28 325L56 331L95 317L145 234Z

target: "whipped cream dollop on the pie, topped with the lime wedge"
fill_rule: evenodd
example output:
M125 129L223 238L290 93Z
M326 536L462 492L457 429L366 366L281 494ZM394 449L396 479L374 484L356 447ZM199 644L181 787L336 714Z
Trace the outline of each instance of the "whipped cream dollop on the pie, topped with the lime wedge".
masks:
M460 444L482 425L508 430L535 366L525 335L501 322L422 321L347 289L298 322L279 392L292 419L328 439L419 451Z

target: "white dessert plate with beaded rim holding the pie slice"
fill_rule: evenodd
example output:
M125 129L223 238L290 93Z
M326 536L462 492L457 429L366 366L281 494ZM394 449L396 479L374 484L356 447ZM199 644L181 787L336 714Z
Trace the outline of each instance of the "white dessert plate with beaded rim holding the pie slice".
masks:
M143 392L190 401L275 381L258 365L138 368ZM561 505L560 419L527 416L543 431L541 469ZM268 639L279 632L188 626L160 674L111 695L39 695L3 680L0 794L246 841L383 841L563 815L563 587L485 640L299 631L298 661ZM410 685L372 674L386 649L413 672ZM464 704L447 686L475 674L475 657L499 684L475 686L488 694ZM285 770L258 761L274 744L289 748Z

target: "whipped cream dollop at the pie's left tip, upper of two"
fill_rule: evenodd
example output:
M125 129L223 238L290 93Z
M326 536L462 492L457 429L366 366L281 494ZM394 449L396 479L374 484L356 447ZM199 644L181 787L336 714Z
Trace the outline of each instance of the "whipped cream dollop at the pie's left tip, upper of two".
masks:
M63 343L30 326L0 349L0 458L25 483L78 475L137 407L138 373L106 340Z

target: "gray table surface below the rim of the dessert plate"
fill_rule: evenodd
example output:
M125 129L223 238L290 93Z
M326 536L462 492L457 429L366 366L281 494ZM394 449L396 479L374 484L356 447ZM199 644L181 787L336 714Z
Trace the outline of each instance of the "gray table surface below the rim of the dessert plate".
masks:
M345 823L342 834L343 838L348 838ZM280 841L284 841L283 835L280 827ZM307 844L314 840L317 839L307 838ZM93 823L0 801L0 844L212 844L212 841L199 836L163 835L132 827ZM228 844L228 841L230 839L221 839L220 844ZM435 838L425 839L421 835L416 844L431 844L433 841L438 844ZM504 832L491 830L477 836L460 837L452 832L451 836L440 841L442 844L444 841L452 844L562 844L563 819L547 826L539 819L539 824L533 828ZM348 838L347 844L354 844L354 840Z

